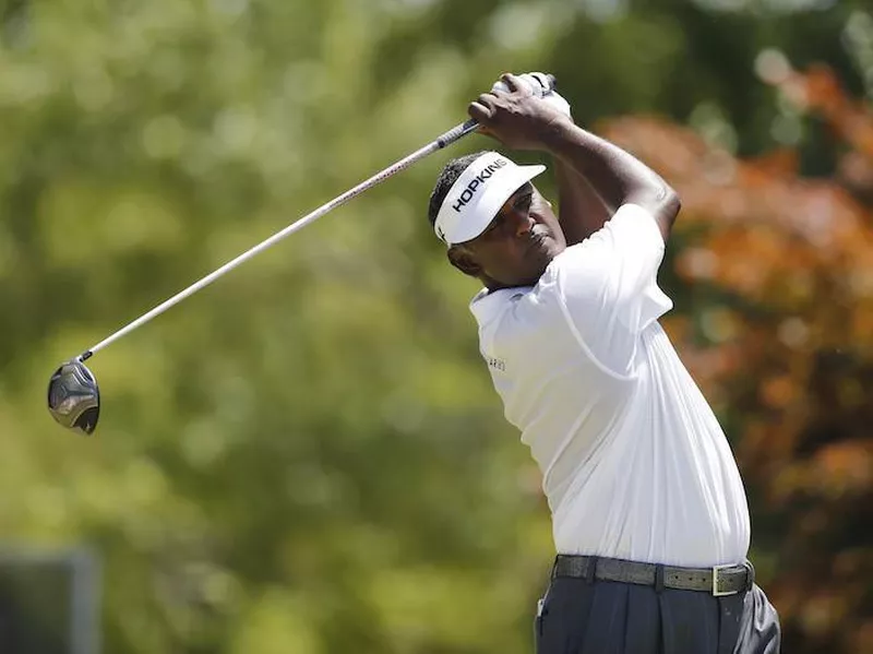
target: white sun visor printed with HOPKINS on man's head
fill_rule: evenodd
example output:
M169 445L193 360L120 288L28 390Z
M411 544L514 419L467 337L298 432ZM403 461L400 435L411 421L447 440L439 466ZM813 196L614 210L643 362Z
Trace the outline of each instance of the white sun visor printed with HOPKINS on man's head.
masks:
M455 180L440 206L433 230L446 245L479 236L500 207L546 166L518 166L497 152L486 152Z

